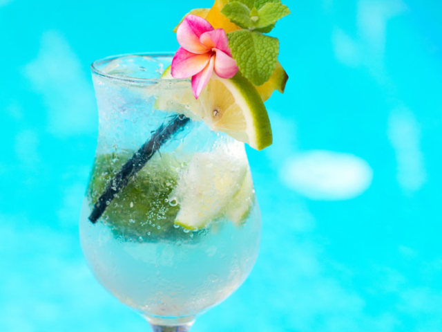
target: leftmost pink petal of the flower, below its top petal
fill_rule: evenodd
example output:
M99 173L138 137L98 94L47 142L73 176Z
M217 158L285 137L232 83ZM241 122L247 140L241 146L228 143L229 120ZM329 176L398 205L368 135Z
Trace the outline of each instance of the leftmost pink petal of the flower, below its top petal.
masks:
M207 66L209 59L209 53L195 54L180 47L172 59L172 77L189 78L196 75Z

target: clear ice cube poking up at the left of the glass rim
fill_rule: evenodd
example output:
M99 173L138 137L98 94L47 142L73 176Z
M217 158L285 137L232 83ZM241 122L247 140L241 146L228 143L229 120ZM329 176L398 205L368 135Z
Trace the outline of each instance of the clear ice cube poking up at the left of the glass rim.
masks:
M127 55L109 62L103 72L119 77L156 79L161 77L164 66L147 55Z

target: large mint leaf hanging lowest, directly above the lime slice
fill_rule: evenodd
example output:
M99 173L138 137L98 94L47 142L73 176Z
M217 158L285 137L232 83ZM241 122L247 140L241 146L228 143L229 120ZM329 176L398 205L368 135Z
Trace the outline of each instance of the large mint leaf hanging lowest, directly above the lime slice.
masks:
M278 61L278 39L249 30L233 31L227 37L242 75L255 86L267 82Z

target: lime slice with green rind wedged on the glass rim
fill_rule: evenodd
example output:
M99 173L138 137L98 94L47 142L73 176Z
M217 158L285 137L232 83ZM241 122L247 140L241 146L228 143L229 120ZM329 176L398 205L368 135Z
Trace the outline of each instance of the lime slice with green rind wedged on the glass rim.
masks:
M173 79L166 68L163 79ZM181 105L181 106L180 106ZM204 120L214 131L249 144L261 150L271 145L270 120L264 102L256 88L240 73L231 79L213 74L198 100L190 89L161 95L155 108L163 111L181 111L193 120Z

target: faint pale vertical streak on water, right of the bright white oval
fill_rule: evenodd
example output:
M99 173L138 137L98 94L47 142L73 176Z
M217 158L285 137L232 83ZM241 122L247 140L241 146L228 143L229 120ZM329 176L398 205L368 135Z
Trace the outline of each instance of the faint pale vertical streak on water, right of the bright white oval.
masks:
M388 120L388 138L397 161L397 180L407 194L421 189L427 173L421 151L421 129L409 109L395 109Z

